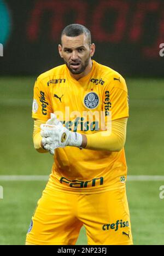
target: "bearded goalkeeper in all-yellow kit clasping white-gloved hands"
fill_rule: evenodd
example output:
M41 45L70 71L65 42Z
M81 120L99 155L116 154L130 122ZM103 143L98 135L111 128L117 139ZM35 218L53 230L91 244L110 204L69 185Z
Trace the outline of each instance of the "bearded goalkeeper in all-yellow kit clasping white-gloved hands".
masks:
M58 52L65 64L34 85L34 147L54 164L26 245L75 245L83 225L89 245L132 245L125 79L91 59L95 44L82 25L62 31Z

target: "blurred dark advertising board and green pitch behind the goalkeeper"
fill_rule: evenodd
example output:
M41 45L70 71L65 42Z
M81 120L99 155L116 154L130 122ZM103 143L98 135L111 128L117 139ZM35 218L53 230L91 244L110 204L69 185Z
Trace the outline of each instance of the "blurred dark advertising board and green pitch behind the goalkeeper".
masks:
M125 150L134 244L164 245L164 199L159 197L164 185L162 0L0 0L0 245L24 245L46 184L46 178L22 181L22 176L51 172L51 155L33 148L33 85L40 73L62 63L57 44L62 28L71 23L90 28L97 46L94 59L127 80L130 119ZM84 228L77 244L87 244Z

